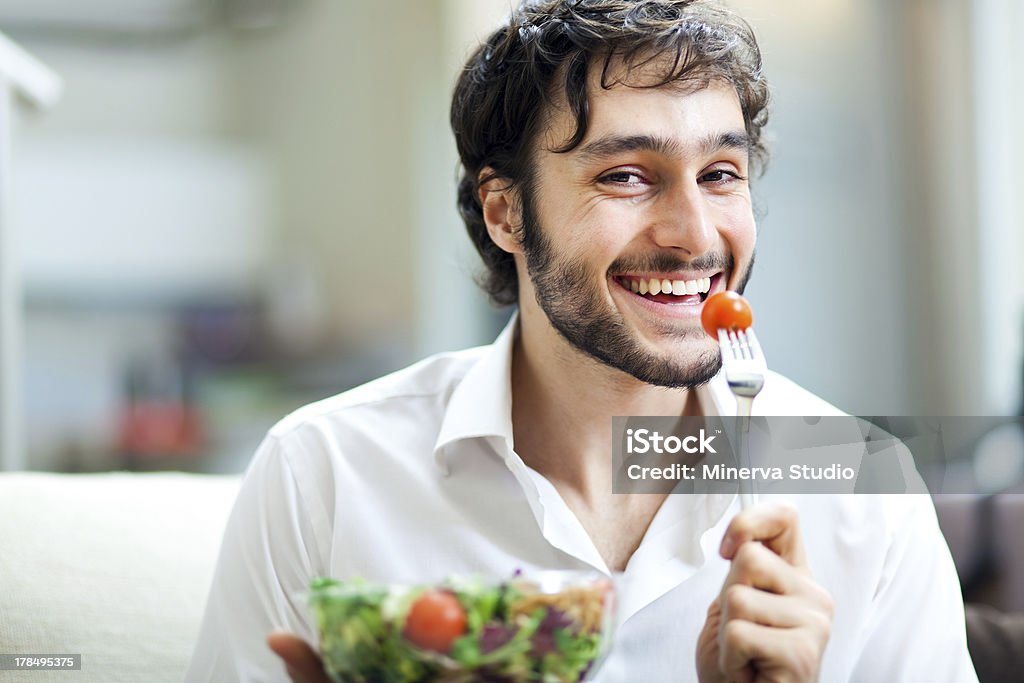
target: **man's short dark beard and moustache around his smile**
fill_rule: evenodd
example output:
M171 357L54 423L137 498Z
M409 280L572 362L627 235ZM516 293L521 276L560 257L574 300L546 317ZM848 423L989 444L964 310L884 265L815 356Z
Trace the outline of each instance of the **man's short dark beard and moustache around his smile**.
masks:
M718 374L722 356L717 344L690 359L679 357L682 353L663 356L645 349L622 314L591 285L593 273L586 261L555 253L537 218L531 188L523 187L521 198L526 271L537 303L562 338L592 358L655 386L692 389ZM683 261L671 253L657 252L642 259L616 259L607 272L721 269L730 273L734 267L731 254L708 254ZM737 286L738 293L745 289L753 267L752 258ZM700 326L683 331L666 328L664 334L681 345L707 338Z

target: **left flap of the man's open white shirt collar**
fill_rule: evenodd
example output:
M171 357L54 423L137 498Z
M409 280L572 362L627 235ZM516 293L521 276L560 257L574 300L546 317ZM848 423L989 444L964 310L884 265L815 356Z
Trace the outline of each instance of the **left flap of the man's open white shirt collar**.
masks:
M452 392L434 442L434 462L445 474L445 446L454 441L496 436L512 450L512 345L519 333L518 324L519 313L515 312Z

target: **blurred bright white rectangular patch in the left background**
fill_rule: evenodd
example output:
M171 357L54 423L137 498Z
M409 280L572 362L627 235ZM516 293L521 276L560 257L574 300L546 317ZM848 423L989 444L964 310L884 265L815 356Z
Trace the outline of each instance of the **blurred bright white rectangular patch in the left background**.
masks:
M260 286L276 193L245 145L90 135L20 152L12 220L31 293L144 303Z

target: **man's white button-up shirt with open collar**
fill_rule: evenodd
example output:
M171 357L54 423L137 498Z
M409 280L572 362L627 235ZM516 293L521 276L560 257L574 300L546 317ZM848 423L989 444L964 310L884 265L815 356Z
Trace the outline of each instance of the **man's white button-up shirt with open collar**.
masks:
M187 681L287 681L273 629L317 642L317 575L427 583L521 568L607 571L554 486L513 450L515 319L490 346L445 353L307 405L274 426L228 520ZM720 375L698 389L734 415ZM760 415L839 415L770 374ZM790 497L836 605L822 683L976 682L959 585L927 496ZM621 584L597 680L696 681L695 648L728 563L735 496L670 496Z

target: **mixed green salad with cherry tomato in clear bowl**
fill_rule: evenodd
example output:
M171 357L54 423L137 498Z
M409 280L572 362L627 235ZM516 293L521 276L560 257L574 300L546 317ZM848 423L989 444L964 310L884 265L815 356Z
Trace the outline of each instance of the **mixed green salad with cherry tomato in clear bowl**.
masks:
M337 683L575 683L610 639L613 591L594 573L437 586L313 581L324 668Z

